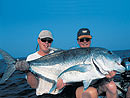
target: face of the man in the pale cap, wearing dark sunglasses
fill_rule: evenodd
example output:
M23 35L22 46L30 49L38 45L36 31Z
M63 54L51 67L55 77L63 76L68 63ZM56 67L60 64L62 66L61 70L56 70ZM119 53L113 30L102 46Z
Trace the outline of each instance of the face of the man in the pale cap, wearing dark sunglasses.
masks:
M51 38L38 39L38 44L39 44L40 50L48 51L49 47L51 47L52 41L53 40Z

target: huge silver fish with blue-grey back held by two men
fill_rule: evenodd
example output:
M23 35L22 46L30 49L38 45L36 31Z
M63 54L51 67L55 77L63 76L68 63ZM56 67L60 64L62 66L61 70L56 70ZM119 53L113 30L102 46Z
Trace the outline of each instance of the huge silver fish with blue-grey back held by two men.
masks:
M0 83L4 83L16 70L17 62L1 49L0 54L8 64L0 81ZM64 83L81 81L86 90L92 80L104 78L110 71L114 70L119 73L125 71L119 56L100 47L58 51L29 61L27 64L33 73L54 84L48 93L56 89L58 78L62 78Z

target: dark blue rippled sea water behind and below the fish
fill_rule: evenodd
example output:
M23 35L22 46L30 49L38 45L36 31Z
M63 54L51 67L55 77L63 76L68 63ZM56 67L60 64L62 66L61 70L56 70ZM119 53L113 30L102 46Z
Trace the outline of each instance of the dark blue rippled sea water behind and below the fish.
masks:
M130 50L113 51L121 58L130 57ZM26 59L26 58L19 58ZM3 59L0 60L0 79L6 68ZM24 72L15 71L14 74L4 83L0 84L0 98L37 98L35 89L32 89L25 79ZM38 98L75 98L76 88L65 88L61 94L39 96Z

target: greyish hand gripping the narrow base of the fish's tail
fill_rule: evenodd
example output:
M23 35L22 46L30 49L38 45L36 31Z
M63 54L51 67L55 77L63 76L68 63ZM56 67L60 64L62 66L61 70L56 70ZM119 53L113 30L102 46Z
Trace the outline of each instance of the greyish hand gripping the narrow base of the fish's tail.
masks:
M15 67L16 70L27 71L29 69L29 64L25 60L17 60Z

